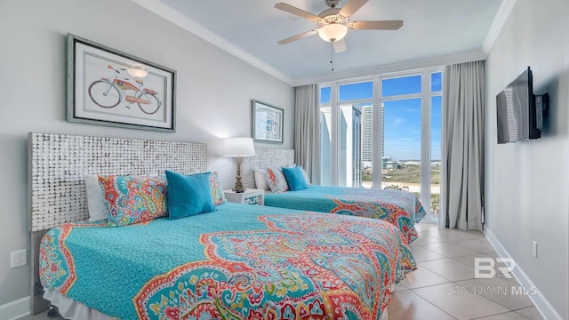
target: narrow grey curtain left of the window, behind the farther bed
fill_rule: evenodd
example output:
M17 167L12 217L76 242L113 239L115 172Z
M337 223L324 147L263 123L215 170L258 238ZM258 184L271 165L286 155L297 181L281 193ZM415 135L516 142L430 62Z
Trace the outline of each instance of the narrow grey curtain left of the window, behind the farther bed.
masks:
M320 109L317 84L294 88L294 160L320 184Z

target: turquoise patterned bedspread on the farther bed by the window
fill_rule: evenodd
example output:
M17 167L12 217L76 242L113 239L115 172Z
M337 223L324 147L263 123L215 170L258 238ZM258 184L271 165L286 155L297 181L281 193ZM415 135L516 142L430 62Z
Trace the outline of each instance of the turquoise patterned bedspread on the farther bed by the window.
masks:
M413 193L377 188L309 186L265 194L265 205L386 220L401 230L409 244L419 236L414 224L425 216L421 201Z

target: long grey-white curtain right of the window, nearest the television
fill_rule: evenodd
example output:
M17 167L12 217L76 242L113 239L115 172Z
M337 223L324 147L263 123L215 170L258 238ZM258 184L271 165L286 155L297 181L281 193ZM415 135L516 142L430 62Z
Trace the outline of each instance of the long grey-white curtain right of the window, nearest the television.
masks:
M442 190L439 226L482 230L484 220L485 63L446 66L443 74Z

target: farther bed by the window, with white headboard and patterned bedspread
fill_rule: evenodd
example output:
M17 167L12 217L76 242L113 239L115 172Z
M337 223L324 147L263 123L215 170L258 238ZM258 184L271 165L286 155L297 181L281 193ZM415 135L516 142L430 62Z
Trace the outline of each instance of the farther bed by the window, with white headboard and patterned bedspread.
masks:
M267 168L274 172L293 165L293 150L257 148L256 155L244 158L245 179L248 188L264 188L265 205L313 212L327 212L386 220L396 225L413 242L419 235L415 223L425 216L421 201L411 192L376 188L348 188L308 186L301 190L270 192L268 186L259 186L255 177ZM282 173L280 173L282 174ZM278 177L276 177L279 180ZM280 178L284 180L284 177Z

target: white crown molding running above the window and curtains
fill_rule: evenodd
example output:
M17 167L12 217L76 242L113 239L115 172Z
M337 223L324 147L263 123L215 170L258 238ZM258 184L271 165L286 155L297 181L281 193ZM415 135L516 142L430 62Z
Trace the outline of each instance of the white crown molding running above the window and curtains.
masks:
M405 61L399 63L391 63L388 65L376 66L371 68L360 68L356 70L332 72L323 76L310 76L302 79L295 79L293 86L306 84L321 84L326 82L361 78L365 76L377 76L401 71L409 71L420 68L440 67L453 63L469 62L476 60L485 60L485 54L482 51L463 52L453 55L447 55L436 58L423 60Z

